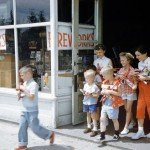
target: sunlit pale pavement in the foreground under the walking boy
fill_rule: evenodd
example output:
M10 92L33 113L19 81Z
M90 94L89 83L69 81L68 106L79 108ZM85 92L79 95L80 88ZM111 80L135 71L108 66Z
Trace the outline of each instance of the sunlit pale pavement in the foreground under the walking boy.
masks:
M18 125L0 121L0 150L13 150L17 146ZM62 135L56 135L55 144L48 145L48 141L44 141L35 136L29 129L29 148L28 150L98 150L98 144L70 138ZM107 147L104 150L110 150ZM112 149L113 150L113 149Z

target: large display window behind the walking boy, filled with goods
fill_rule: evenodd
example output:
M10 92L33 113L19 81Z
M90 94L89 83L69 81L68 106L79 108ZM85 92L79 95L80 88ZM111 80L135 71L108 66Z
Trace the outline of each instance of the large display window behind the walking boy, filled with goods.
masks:
M51 53L46 45L46 27L18 29L19 67L31 65L41 91L50 92Z

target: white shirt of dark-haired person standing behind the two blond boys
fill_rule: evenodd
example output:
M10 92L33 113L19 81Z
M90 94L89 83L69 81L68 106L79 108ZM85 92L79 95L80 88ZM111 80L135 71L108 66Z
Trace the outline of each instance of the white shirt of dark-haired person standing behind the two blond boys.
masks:
M94 60L94 63L93 63L96 68L100 68L102 69L103 67L106 67L108 65L111 65L111 59L103 56L102 58L97 58L96 60Z

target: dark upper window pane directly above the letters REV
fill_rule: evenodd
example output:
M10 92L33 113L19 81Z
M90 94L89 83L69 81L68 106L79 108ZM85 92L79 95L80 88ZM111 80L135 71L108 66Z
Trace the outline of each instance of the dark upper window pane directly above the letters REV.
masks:
M58 0L58 21L71 22L71 0Z

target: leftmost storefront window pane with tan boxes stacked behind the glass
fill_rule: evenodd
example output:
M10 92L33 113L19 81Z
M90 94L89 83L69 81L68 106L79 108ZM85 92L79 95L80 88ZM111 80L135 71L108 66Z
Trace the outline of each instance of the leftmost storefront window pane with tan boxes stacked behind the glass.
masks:
M14 31L0 30L0 87L16 86Z

